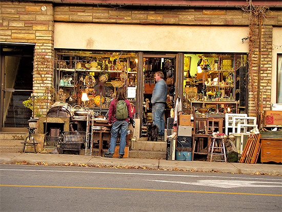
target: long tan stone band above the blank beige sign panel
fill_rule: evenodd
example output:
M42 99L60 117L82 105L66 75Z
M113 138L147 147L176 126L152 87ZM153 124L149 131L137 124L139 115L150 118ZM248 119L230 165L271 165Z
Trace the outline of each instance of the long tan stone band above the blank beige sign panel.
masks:
M249 14L238 9L123 9L106 7L56 6L55 22L228 25L248 26ZM272 11L266 25L282 26L281 11Z

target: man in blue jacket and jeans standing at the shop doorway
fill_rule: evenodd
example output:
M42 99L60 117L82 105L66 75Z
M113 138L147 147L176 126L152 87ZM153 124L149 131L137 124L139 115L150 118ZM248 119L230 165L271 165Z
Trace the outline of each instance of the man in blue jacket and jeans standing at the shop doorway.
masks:
M158 125L158 139L165 138L165 107L167 101L168 86L164 81L163 72L155 73L156 84L153 90L151 103L153 104L153 124Z

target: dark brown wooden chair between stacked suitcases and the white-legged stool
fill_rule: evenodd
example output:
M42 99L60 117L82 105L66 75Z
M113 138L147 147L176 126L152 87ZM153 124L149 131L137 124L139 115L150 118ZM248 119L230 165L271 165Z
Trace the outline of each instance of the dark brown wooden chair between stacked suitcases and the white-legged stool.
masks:
M195 107L192 107L194 118L192 160L194 154L207 155L210 145L210 135L208 134L209 119L207 117L196 117Z

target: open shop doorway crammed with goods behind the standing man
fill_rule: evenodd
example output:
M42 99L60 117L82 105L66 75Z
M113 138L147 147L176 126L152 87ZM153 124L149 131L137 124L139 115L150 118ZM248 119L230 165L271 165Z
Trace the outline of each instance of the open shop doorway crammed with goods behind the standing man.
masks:
M167 119L171 117L171 109L174 105L175 96L175 74L176 74L176 55L175 54L144 54L143 73L144 73L144 97L143 97L143 115L142 132L140 137L148 137L148 126L153 123L152 118L152 93L155 87L155 73L163 72L164 81L168 86L167 100L165 108L165 128L167 128Z

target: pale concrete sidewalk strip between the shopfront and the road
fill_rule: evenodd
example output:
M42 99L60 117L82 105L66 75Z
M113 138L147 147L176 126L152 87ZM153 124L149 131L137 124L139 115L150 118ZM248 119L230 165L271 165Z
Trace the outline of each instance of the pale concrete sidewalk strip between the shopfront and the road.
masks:
M119 167L147 167L161 170L187 170L204 172L223 172L236 174L265 174L282 175L282 165L276 164L244 164L244 163L222 163L207 161L166 161L159 159L142 158L104 158L98 156L79 155L52 155L50 153L19 153L1 152L0 163L22 163L29 164L44 162L53 164L87 164L99 166L119 166Z

